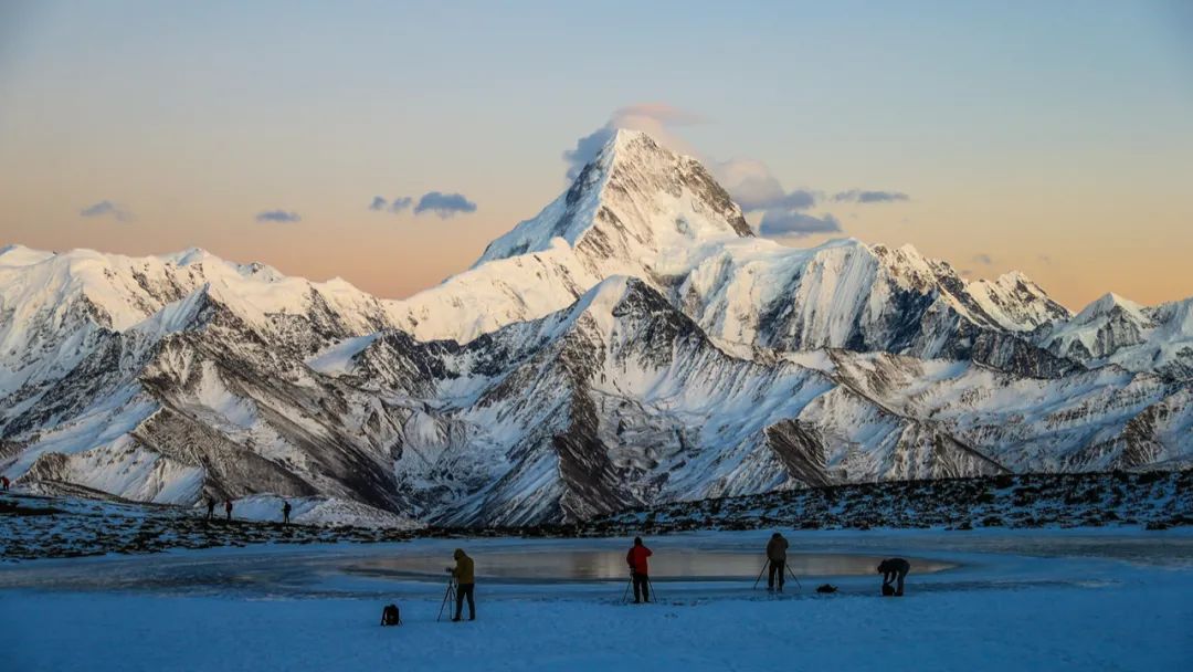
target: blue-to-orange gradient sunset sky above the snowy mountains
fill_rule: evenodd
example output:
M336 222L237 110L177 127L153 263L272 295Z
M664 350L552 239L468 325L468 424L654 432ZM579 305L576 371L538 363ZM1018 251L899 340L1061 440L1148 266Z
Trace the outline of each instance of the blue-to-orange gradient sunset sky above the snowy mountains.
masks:
M667 131L710 162L909 196L829 199L808 214L843 233L785 243L910 242L971 277L1022 270L1074 309L1193 295L1182 0L0 0L0 245L199 246L406 296L534 215L565 189L564 150L648 103L698 121ZM415 215L429 192L475 211Z

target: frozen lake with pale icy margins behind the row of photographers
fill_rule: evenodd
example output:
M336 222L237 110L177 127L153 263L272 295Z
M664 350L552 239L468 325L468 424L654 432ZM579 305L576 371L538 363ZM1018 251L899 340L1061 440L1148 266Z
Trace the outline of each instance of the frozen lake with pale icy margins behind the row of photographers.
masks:
M651 579L672 585L672 594L749 590L762 569L767 538L766 532L648 538L655 553ZM1193 565L1193 537L1188 535L884 531L792 532L787 538L789 565L802 584L830 581L847 591L872 590L877 584L874 567L890 556L907 557L913 566L910 581L926 590L1076 582L1096 575L1096 571L1044 575L1041 566L1024 561L1026 556L1084 559L1083 567L1107 561ZM626 580L629 544L624 538L453 538L47 560L0 568L0 590L243 597L429 594L441 590L444 569L459 547L476 561L477 582L490 596L557 594L563 586L571 586L568 590L575 596L598 596L608 593L608 582ZM999 567L997 578L989 571L991 566Z

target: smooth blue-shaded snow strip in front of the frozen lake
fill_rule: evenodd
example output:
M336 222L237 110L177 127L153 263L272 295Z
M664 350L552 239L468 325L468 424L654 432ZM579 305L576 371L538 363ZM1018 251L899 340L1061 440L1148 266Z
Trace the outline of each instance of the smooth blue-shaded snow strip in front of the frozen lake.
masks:
M660 586L666 588L666 585ZM619 605L494 600L437 623L439 599L237 600L140 594L5 596L14 670L1188 670L1188 574L1119 584L916 592L902 599ZM616 592L618 588L612 588Z

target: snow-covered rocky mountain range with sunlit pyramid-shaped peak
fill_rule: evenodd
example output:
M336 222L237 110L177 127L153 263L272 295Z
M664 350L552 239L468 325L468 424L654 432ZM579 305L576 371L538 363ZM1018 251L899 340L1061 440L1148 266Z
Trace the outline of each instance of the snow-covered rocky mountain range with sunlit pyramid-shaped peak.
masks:
M0 470L124 498L520 524L806 485L1193 462L1193 298L754 235L619 131L403 301L200 249L0 249Z

